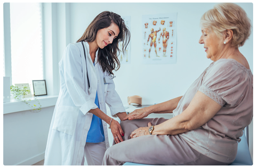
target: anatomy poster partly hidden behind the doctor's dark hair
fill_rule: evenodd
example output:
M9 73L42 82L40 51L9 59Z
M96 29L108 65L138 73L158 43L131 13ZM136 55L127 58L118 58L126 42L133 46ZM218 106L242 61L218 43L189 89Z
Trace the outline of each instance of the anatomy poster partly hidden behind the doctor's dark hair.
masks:
M122 19L125 21L126 27L130 30L130 28L131 28L131 17L130 16L122 17ZM130 60L131 59L130 43L131 43L131 41L129 42L129 44L126 48L125 54L123 52L120 52L120 54L118 55L118 60L120 61L121 64L130 64L131 63L131 60ZM122 42L119 43L118 48L122 51Z

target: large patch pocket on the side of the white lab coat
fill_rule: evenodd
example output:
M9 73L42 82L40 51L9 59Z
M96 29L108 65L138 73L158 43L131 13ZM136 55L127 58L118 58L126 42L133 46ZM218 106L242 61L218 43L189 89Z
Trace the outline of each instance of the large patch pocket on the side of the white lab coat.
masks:
M77 123L79 108L72 106L59 106L56 110L53 130L73 135Z

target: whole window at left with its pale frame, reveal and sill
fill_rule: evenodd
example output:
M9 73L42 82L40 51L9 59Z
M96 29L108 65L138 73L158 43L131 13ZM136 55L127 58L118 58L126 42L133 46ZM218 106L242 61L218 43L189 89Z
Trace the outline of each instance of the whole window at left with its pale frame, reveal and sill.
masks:
M65 3L60 3L65 7ZM10 77L10 84L46 80L47 96L38 97L44 107L54 106L58 98L58 59L53 59L57 43L56 3L3 3L4 53L3 75ZM45 19L46 18L46 19ZM57 31L57 30L56 30ZM54 36L53 36L54 35ZM44 39L47 39L45 43ZM46 56L45 56L45 53ZM57 51L54 51L56 54ZM44 64L47 62L47 64ZM49 85L48 85L49 84ZM6 87L4 89L10 89ZM31 98L31 102L35 101ZM24 103L11 100L4 103L4 114L30 110Z

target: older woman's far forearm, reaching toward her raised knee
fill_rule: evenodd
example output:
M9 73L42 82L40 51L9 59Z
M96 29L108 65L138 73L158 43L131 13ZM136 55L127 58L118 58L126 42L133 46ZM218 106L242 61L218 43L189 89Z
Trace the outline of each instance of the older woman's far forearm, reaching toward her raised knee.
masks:
M182 96L171 99L169 101L149 106L150 113L173 113L173 110L177 108Z

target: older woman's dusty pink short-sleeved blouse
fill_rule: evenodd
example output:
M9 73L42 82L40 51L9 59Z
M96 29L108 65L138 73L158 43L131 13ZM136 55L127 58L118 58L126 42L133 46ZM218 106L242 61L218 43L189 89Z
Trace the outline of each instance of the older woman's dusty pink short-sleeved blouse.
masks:
M253 116L253 75L233 59L212 62L190 86L173 115L182 113L196 92L202 92L222 106L198 129L179 134L187 143L209 158L230 163L237 154L237 142Z

